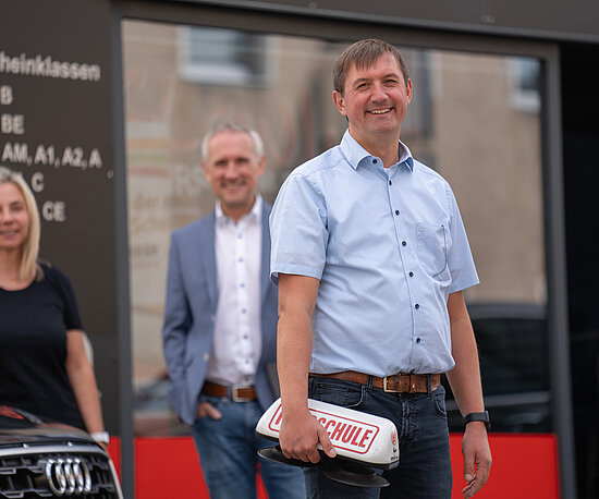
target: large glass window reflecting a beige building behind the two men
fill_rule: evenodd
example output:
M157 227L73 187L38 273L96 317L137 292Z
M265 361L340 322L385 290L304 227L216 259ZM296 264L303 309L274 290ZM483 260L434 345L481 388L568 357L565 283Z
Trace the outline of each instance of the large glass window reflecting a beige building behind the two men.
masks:
M338 144L346 127L331 99L331 69L345 46L123 22L138 435L187 431L168 406L161 328L170 233L215 204L200 169L203 135L225 119L255 127L267 160L259 190L273 202L289 172ZM514 94L538 99L540 65L531 59L400 49L414 84L402 141L451 183L481 280L465 294L480 343L487 404L497 414L524 407L499 425L506 430L539 428L529 422L547 423L548 416L527 404L549 398L540 109L515 106ZM533 366L527 353L535 356Z

